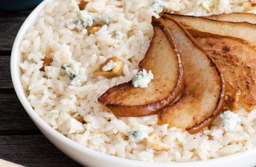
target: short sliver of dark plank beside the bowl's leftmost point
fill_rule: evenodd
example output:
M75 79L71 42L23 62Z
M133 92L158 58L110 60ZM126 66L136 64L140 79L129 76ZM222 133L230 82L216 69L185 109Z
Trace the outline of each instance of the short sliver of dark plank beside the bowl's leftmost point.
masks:
M10 77L10 56L0 56L0 90L3 88L13 88Z

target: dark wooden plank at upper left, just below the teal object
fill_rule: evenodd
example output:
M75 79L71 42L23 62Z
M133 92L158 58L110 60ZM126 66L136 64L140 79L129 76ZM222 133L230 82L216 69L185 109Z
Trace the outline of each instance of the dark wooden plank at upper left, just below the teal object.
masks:
M0 13L0 54L11 50L16 34L29 13L31 10Z

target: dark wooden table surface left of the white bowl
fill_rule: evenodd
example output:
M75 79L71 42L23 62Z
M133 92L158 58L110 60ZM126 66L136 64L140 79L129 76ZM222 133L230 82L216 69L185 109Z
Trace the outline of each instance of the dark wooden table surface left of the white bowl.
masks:
M10 52L29 13L0 11L0 159L28 167L78 167L36 128L13 89Z

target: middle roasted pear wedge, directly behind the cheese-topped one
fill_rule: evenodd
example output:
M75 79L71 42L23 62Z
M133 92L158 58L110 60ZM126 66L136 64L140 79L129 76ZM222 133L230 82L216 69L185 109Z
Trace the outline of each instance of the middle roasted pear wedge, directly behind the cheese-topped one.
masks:
M159 114L159 123L182 128L191 134L210 125L225 101L222 73L182 24L175 19L153 19L170 30L179 50L185 76L185 91L173 105Z

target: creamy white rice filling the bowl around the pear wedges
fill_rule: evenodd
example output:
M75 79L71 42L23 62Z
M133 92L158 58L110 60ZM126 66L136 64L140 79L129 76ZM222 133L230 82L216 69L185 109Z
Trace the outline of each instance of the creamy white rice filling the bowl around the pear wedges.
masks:
M132 160L207 160L254 147L256 110L238 111L239 131L225 131L218 117L210 129L191 135L157 125L157 116L116 118L98 104L97 98L108 88L138 72L153 36L151 16L164 7L195 16L255 10L246 0L95 0L82 12L75 0L49 1L20 46L22 85L32 107L71 140ZM89 34L85 27L97 20L104 22L103 27ZM52 56L53 62L40 71L45 56ZM112 56L124 62L124 76L93 76Z

